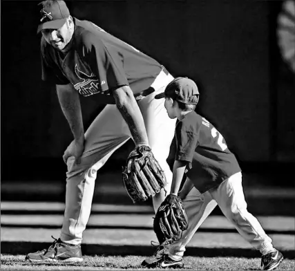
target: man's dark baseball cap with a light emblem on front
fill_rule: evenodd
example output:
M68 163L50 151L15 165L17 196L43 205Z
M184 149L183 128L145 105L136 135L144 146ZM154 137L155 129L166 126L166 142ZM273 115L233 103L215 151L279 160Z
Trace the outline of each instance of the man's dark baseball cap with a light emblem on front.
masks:
M68 7L64 1L47 0L40 3L40 22L37 33L42 29L58 29L64 26L70 16Z

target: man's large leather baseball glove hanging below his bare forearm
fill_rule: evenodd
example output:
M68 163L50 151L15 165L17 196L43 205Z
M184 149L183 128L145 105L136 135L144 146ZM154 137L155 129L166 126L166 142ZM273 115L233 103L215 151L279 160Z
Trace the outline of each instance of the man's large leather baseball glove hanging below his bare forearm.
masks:
M122 172L123 183L133 200L147 200L166 186L166 178L151 148L140 146L129 154Z

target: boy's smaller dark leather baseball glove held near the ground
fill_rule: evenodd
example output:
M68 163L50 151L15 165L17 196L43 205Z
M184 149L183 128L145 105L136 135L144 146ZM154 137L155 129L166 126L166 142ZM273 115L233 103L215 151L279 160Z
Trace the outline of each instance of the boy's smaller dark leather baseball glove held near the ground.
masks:
M153 230L160 244L178 241L189 223L182 200L179 196L168 195L160 205L153 220Z

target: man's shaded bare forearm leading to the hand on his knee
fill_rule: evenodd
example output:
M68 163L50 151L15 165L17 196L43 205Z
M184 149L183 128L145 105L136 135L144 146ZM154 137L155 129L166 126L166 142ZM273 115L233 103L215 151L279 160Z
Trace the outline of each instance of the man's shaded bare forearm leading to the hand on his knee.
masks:
M57 97L75 140L83 141L84 126L79 93L70 84L57 85Z

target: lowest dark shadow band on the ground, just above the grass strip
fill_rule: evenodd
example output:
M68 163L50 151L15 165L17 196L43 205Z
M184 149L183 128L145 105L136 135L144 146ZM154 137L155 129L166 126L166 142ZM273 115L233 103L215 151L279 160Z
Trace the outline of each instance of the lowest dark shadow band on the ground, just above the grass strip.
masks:
M28 254L37 250L43 250L49 247L51 243L37 242L1 242L2 254ZM82 244L82 252L85 256L103 255L103 256L151 256L155 252L155 247L149 245L92 245ZM295 259L294 250L281 250L285 259ZM185 256L202 256L202 257L243 257L259 258L260 252L247 248L231 247L187 247Z

